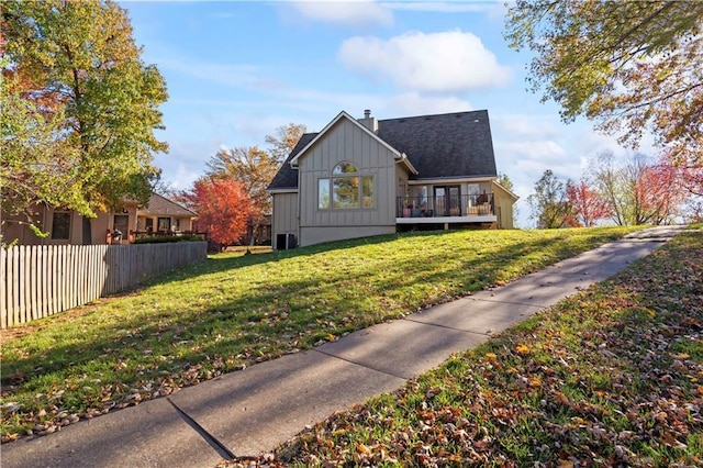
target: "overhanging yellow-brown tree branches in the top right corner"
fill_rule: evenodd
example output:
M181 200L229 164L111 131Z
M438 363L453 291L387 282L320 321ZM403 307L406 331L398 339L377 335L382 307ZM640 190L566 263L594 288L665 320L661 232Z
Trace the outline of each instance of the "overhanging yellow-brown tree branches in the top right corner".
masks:
M633 147L649 131L703 177L703 2L517 0L505 36L535 53L528 82L565 121L594 119Z

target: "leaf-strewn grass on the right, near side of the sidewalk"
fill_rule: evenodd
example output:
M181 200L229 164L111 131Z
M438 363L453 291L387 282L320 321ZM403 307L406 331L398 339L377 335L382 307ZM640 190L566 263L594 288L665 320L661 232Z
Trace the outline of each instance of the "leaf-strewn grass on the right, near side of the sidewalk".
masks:
M272 466L322 460L703 466L703 231L305 431Z

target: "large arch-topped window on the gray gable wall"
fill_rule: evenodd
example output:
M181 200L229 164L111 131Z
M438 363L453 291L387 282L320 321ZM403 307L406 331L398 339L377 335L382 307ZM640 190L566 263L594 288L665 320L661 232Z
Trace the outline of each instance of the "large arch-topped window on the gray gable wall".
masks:
M317 208L373 208L373 177L361 176L352 163L339 163L332 170L336 177L317 180Z

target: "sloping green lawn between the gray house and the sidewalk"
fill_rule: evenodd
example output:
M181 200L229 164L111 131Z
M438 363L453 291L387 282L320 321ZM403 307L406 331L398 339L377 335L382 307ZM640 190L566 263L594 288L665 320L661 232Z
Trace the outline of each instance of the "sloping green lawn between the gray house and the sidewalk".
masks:
M216 255L25 336L3 332L2 437L53 432L310 348L631 231L460 231Z

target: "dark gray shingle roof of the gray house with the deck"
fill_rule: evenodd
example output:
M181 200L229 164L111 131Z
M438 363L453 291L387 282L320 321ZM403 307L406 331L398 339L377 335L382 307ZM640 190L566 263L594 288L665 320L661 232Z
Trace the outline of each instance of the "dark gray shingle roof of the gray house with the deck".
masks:
M292 169L288 161L316 135L306 133L300 138L271 181L270 190L298 188L298 169ZM378 136L408 155L419 172L414 179L498 175L486 110L379 120Z

